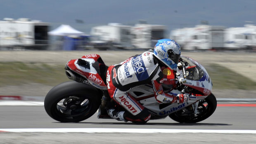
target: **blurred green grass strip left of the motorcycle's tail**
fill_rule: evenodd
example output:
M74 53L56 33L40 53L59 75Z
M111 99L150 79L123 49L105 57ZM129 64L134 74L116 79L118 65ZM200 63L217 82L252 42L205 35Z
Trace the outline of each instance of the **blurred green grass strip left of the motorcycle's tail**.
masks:
M64 65L46 63L0 63L0 86L39 83L55 86L68 81Z

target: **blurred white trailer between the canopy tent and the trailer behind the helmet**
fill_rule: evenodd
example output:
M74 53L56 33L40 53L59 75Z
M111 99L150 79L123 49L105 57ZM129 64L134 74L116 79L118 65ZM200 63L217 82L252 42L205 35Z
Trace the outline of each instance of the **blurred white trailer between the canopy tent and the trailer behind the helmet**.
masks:
M125 26L121 23L109 23L106 26L95 26L91 29L90 35L95 37L92 43L113 44L114 47L121 49L130 49L131 45L131 26ZM100 44L98 44L100 45Z

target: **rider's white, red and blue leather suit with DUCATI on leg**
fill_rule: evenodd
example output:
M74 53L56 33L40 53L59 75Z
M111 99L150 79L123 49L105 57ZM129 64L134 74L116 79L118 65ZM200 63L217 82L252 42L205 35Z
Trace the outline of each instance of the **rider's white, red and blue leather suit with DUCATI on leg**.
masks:
M126 117L127 121L136 121L135 119L148 121L150 119L150 112L127 93L135 86L151 83L157 102L174 103L177 101L176 96L164 93L163 82L161 67L150 51L128 58L119 65L111 65L107 70L109 96L133 115Z

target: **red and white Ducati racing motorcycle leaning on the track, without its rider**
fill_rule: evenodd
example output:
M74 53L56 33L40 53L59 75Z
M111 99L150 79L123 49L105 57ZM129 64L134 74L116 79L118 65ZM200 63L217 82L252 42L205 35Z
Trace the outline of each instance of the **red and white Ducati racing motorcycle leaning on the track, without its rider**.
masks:
M46 95L44 106L47 114L60 122L79 122L90 118L98 111L98 118L110 118L109 107L124 109L111 100L107 92L107 66L97 54L89 54L66 63L66 76L73 80L53 87ZM181 56L172 88L163 84L164 91L171 95L180 93L189 96L184 103L159 104L154 98L152 84L132 88L133 96L152 114L151 119L169 116L180 123L203 121L216 109L217 101L211 93L212 82L206 69L192 58ZM128 104L127 104L128 105Z

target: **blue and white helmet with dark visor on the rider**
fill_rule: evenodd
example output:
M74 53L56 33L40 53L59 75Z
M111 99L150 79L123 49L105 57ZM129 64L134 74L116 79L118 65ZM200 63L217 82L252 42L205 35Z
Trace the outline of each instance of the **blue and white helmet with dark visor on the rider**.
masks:
M159 39L154 47L154 56L172 70L180 60L180 45L172 39Z

